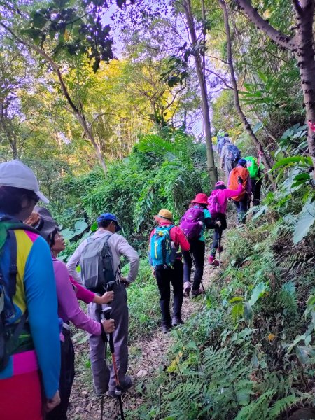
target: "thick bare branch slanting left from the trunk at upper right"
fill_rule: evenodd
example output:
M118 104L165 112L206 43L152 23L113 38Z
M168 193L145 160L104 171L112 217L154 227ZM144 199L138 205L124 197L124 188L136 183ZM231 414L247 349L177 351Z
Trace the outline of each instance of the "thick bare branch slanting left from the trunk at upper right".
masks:
M253 22L253 24L262 30L267 36L269 36L272 41L281 47L286 48L286 50L295 49L295 38L282 34L281 31L278 31L270 25L269 22L262 18L258 11L251 6L250 0L236 0L236 3L242 10L244 10L248 19L251 20L251 22Z

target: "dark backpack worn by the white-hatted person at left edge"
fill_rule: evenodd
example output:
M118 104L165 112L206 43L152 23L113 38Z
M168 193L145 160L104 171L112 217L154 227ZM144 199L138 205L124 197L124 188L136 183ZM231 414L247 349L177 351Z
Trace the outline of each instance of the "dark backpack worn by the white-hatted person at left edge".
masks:
M16 276L18 274L17 257L18 248L14 230L22 229L29 230L38 235L39 232L31 228L29 225L24 225L18 221L15 221L9 216L3 216L0 218L0 223L5 223L4 229L6 230L6 240L3 243L6 244L8 241L10 248L10 267L8 279L4 278L3 272L0 265L0 372L5 369L8 365L10 355L15 353L20 347L20 335L25 329L25 323L27 321L27 311L20 317L18 323L8 325L6 320L15 314L15 307L13 304L13 297L16 293ZM0 249L3 251L3 246Z

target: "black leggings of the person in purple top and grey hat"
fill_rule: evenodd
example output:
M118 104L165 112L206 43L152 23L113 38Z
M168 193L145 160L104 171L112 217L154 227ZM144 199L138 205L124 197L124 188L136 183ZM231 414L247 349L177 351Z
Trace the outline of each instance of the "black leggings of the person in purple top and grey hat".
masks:
M59 380L60 404L46 414L46 420L67 420L71 388L74 379L74 349L70 331L63 328L64 342L61 342L61 370Z

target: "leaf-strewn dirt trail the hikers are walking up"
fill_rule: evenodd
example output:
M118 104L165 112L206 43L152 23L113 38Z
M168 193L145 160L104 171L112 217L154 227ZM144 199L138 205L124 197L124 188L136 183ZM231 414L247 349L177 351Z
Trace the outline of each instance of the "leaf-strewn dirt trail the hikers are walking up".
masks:
M218 269L210 267L205 262L203 283L206 290L211 286L211 281L217 274ZM203 304L204 299L202 296L195 299L184 297L183 321L186 321L191 314L197 312ZM172 333L162 334L160 326L158 327L157 325L151 337L131 343L130 367L127 373L132 376L134 386L123 395L123 406L126 413L139 407L141 402L143 402L139 396L140 394L137 392L137 386L141 386L141 382L144 379L153 376L160 365L165 365L168 349L173 342L174 337L172 337ZM69 420L101 419L101 398L97 397L93 391L88 344L75 344L75 352L76 377L71 392L68 418ZM118 400L105 396L103 419L120 419L119 412Z

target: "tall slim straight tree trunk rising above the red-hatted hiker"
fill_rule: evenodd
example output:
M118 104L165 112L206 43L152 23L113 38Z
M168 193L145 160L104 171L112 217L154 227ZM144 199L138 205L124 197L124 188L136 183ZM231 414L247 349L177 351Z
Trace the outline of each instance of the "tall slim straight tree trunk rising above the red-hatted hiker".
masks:
M195 23L193 14L191 12L190 0L183 0L183 8L185 10L186 20L190 32L191 43L193 48L197 45L197 35L195 29ZM211 136L211 122L209 113L209 102L207 83L204 78L204 72L202 69L202 59L200 52L195 51L194 53L196 72L198 82L200 85L201 96L202 96L202 116L204 118L204 133L206 134L206 146L207 146L207 168L209 172L209 178L211 183L215 184L218 181L218 171L214 163L214 148L212 147L212 136Z

